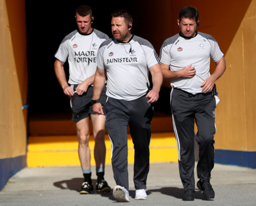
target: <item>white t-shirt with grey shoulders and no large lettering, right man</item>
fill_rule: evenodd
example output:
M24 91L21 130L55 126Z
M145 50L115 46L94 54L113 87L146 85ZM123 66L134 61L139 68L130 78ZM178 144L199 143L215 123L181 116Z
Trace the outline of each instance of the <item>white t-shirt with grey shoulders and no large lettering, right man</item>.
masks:
M160 49L160 62L170 65L171 71L178 71L192 64L196 75L192 78L178 78L171 86L192 94L202 93L201 84L210 77L210 58L217 62L223 57L216 40L207 34L198 32L193 38L184 38L180 34L167 38Z

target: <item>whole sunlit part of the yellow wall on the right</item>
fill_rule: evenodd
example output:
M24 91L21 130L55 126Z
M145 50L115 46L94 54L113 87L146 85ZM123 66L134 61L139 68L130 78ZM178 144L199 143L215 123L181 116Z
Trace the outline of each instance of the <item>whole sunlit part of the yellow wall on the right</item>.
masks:
M226 52L227 71L218 81L223 103L216 112L219 128L216 140L221 149L256 150L255 25L256 0L252 0L239 28L234 31Z

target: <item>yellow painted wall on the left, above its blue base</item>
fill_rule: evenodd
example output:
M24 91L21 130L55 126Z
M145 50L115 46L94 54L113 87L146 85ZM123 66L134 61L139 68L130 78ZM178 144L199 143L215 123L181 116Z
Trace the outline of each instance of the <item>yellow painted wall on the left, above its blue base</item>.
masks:
M0 159L26 154L25 0L0 0Z

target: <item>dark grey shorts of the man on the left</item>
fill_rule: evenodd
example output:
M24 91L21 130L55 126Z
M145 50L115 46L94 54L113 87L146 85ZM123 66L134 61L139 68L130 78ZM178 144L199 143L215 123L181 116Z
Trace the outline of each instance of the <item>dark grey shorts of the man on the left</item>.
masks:
M73 89L75 90L77 86L78 84L74 85ZM102 105L103 111L107 100L106 90L107 88L104 86L100 96L100 104ZM70 100L70 107L72 109L72 121L79 121L88 117L89 114L95 114L93 112L93 105L91 104L92 97L93 86L89 86L87 92L83 93L83 95L77 95L77 93L74 93L74 96Z

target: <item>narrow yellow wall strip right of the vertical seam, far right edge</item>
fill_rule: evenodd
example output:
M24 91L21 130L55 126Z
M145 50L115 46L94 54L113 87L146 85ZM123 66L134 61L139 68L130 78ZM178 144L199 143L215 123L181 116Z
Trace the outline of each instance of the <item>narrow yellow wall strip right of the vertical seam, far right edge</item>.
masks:
M252 1L243 20L242 29L244 41L243 69L245 73L245 127L247 150L256 150L256 1Z

